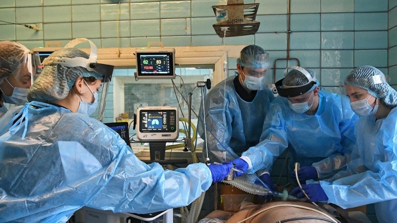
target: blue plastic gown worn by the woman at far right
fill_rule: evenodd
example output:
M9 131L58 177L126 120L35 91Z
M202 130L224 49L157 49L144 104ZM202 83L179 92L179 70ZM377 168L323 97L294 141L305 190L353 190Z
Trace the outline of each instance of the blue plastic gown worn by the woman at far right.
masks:
M379 223L397 219L397 108L386 118L360 117L356 147L345 171L320 181L329 203L352 208L375 203Z

